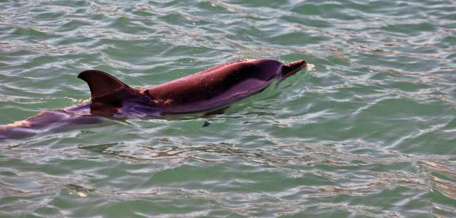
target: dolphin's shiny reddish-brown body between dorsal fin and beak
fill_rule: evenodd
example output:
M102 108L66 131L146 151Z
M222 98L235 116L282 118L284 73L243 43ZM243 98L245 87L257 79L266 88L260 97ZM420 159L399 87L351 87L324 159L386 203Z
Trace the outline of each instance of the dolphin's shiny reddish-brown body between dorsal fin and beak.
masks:
M205 110L259 92L280 75L281 62L232 62L146 89L152 102L172 110Z

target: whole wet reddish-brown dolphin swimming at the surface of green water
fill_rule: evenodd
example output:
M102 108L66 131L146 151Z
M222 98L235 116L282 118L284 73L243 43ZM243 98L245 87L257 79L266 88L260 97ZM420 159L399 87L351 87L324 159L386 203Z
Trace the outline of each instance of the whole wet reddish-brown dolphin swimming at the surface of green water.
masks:
M38 130L96 124L102 117L160 116L216 111L232 102L261 92L274 79L283 80L306 67L304 60L286 65L276 60L229 62L150 89L135 89L98 70L86 70L91 99L86 104L42 111L24 121L0 125L0 139L22 138Z

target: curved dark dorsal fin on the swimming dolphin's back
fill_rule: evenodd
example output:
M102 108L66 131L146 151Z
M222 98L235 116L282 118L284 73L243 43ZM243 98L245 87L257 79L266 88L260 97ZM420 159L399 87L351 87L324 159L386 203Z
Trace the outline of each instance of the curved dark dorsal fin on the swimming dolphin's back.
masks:
M119 100L119 91L130 91L130 87L106 72L99 70L86 70L78 78L87 82L92 95L92 102L105 100ZM115 95L115 96L113 96Z

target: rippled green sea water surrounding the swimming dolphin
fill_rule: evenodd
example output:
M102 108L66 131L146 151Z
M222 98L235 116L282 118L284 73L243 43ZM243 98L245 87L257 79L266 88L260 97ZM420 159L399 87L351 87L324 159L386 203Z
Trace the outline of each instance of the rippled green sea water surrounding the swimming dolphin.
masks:
M0 1L0 124L245 58L224 114L0 142L0 217L456 217L455 1ZM209 119L210 125L202 128Z

